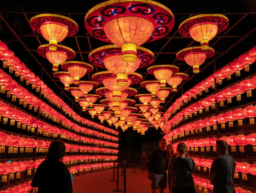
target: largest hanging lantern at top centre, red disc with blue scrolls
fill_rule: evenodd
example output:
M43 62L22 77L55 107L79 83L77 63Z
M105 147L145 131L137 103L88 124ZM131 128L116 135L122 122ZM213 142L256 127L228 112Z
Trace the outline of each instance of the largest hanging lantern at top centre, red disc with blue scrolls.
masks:
M120 7L122 11L119 12L111 8L116 6ZM146 12L134 11L137 6L140 9L143 7L142 9L145 9ZM155 11L164 13L168 21L162 22L158 20L159 18L155 19L153 14ZM93 18L98 18L97 22ZM159 33L159 25L165 29L165 33ZM173 26L173 13L154 1L152 3L139 0L101 3L89 10L85 16L86 30L97 39L111 41L115 45L122 46L122 60L125 62L137 59L137 46L163 37L170 32ZM158 35L154 35L156 31L158 31Z

